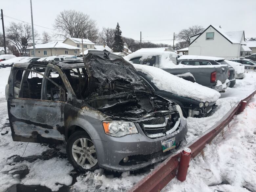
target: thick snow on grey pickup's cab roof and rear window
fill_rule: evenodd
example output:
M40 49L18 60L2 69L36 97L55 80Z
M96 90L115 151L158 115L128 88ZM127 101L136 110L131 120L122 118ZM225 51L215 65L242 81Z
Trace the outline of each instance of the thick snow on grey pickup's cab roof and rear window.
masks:
M125 60L129 61L130 63L132 63L130 61L130 59L132 58L136 58L136 57L141 57L140 59L147 59L147 58L151 58L152 56L161 56L160 58L160 65L156 66L159 67L161 69L166 69L166 68L175 68L177 67L177 57L178 54L175 52L170 52L170 51L162 51L162 52L133 52L125 57L123 57Z

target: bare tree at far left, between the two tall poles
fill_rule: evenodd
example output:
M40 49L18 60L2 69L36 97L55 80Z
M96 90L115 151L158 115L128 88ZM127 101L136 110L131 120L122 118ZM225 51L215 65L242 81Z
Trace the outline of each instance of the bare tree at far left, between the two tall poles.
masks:
M34 31L35 38L38 37L37 31ZM32 29L27 23L11 22L6 30L8 41L14 44L20 53L25 52L28 43L32 41Z

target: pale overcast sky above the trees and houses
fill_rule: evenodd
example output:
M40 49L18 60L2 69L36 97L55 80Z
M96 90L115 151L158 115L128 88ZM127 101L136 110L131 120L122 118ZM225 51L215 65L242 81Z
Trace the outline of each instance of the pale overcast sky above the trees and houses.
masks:
M1 0L4 15L31 22L30 0ZM192 25L210 24L227 31L245 31L256 37L256 0L32 0L34 29L54 33L56 15L74 9L89 14L99 29L115 28L119 22L122 35L136 40L172 44L173 32ZM5 28L17 20L4 17ZM2 25L0 25L2 32ZM51 30L52 29L52 30ZM55 39L55 38L54 38Z

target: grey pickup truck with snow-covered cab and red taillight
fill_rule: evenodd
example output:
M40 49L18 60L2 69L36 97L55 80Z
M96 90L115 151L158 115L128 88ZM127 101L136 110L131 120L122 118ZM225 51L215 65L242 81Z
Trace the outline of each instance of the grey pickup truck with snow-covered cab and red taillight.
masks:
M134 64L149 65L163 69L183 79L197 82L218 92L229 86L227 65L187 66L178 64L178 54L174 52L134 52L124 57Z

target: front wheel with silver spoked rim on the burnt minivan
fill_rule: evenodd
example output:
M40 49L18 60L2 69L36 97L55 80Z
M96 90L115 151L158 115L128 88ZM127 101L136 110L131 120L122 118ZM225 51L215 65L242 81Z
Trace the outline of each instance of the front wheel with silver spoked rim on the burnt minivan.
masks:
M96 149L86 132L73 133L68 139L66 151L68 160L77 171L94 171L98 168Z

